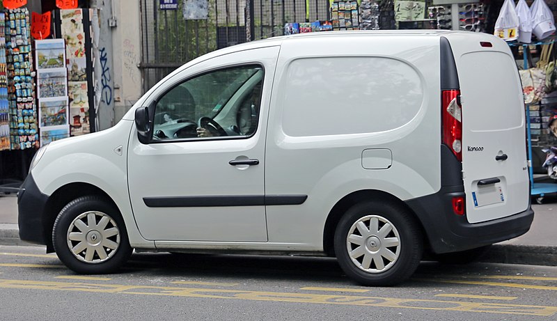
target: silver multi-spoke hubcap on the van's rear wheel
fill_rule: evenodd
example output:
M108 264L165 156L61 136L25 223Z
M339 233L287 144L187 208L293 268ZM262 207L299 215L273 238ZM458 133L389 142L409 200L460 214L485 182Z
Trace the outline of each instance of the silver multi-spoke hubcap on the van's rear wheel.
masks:
M381 273L393 267L400 256L400 235L384 217L368 215L352 224L346 237L352 263L368 273Z

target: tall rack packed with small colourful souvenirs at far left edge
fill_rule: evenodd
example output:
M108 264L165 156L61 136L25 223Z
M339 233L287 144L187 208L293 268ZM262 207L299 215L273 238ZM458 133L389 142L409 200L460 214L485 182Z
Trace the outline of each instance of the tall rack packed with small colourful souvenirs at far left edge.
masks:
M0 193L17 191L38 146L29 10L0 15Z

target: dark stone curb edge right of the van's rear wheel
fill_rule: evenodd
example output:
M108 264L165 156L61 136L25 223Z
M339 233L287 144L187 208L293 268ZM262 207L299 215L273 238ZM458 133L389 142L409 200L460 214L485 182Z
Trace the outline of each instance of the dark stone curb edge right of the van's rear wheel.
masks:
M484 263L557 266L556 246L494 244L479 260Z

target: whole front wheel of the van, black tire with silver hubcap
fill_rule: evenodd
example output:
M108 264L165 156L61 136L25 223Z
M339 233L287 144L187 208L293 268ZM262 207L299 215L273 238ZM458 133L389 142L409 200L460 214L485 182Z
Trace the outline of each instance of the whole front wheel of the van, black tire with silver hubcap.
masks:
M65 205L54 222L52 244L62 263L79 274L115 272L132 255L120 211L98 196Z

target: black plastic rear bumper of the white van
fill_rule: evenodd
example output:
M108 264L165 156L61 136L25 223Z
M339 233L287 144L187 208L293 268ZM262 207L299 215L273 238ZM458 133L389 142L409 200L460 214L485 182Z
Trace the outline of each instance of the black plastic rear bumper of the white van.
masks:
M528 204L524 212L469 224L466 215L453 212L454 196L464 196L464 186L442 187L436 194L406 202L423 224L434 253L464 251L510 240L528 232L534 219L534 211Z

